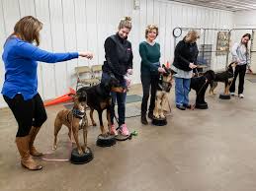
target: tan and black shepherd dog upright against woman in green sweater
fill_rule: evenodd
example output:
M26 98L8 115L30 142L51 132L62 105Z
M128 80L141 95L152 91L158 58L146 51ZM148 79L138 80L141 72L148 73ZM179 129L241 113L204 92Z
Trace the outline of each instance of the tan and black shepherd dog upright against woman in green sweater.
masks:
M163 66L163 68L165 69L165 73L160 75L155 96L155 107L153 110L153 115L155 118L165 118L163 106L169 104L167 96L172 88L173 74L175 73L170 68L166 68L165 66Z

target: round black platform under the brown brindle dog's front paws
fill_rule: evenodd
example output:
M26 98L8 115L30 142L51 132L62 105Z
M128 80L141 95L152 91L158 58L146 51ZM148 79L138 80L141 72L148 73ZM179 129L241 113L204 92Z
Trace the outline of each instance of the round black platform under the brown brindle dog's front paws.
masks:
M88 152L79 155L77 148L72 150L70 162L74 164L83 164L91 161L93 159L93 153L90 148L87 148Z

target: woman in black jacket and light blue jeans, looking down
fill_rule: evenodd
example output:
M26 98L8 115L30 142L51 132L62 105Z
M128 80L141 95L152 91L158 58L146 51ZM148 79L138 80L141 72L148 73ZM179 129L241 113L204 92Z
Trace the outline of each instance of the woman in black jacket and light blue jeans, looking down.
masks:
M190 80L193 69L197 67L199 50L196 41L198 38L197 32L188 32L175 48L172 65L172 69L177 73L175 74L175 101L176 107L181 110L191 107L189 104Z

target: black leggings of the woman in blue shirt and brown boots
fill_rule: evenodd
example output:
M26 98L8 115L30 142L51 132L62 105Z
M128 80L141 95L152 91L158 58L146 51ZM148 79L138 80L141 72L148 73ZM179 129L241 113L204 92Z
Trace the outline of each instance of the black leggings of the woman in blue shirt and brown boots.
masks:
M29 100L24 100L21 94L13 98L4 96L4 99L13 111L19 126L16 137L29 135L32 126L41 127L47 119L43 100L39 94Z

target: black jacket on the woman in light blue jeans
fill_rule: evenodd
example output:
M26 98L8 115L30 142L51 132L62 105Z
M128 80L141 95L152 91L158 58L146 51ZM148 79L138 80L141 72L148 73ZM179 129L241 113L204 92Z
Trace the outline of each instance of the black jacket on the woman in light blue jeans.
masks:
M199 49L197 43L188 43L185 40L179 41L174 52L173 65L184 71L191 71L190 63L197 64Z

